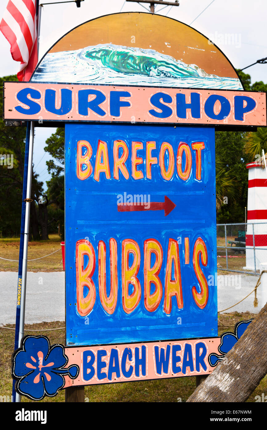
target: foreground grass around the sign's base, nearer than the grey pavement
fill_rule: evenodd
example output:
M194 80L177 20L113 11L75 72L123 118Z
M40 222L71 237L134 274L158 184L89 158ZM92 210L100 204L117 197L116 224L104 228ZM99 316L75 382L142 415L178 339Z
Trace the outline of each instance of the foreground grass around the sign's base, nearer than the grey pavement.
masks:
M253 315L249 313L230 313L219 315L219 334L234 329L234 324L241 320L249 319ZM45 334L50 339L51 344L64 344L64 330L47 331L63 327L64 322L42 322L40 324L26 325L25 334ZM6 327L14 328L14 325ZM39 331L30 331L39 330ZM14 348L14 330L0 329L0 393L1 396L11 396L12 378L10 375L11 355ZM103 384L85 387L85 398L89 402L177 402L180 398L182 402L195 390L195 377L164 379L155 381L136 381L121 384ZM249 396L247 402L255 402L255 396L267 393L267 376L260 382L254 393ZM22 396L22 402L31 402L27 397ZM45 397L42 402L64 402L64 390L60 391L56 397Z

